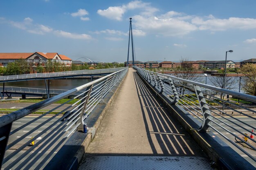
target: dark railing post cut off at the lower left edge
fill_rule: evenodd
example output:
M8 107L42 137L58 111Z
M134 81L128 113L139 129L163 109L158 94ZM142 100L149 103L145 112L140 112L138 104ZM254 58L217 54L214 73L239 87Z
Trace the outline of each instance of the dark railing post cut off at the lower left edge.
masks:
M2 126L0 128L0 168L2 168L4 154L7 147L9 135L11 132L11 126L12 126L12 123Z

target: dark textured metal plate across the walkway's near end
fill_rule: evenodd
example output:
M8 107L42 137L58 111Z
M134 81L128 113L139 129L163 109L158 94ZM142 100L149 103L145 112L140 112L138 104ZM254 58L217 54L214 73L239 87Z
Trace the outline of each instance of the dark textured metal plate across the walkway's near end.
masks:
M214 170L204 157L87 156L79 170Z

